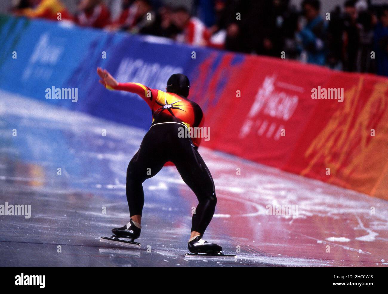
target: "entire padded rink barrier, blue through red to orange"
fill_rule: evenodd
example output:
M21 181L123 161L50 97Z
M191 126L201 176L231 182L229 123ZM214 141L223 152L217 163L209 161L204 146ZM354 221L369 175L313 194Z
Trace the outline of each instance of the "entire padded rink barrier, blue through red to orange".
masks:
M211 130L203 146L388 200L384 77L10 16L0 38L3 90L147 129L149 107L102 88L96 67L162 90L185 73ZM52 87L77 89L76 103L46 99Z

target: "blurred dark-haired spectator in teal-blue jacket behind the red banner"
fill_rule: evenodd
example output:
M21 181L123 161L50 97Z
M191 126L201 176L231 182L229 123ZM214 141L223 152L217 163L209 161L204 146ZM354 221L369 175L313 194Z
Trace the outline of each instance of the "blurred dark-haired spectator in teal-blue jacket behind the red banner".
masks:
M307 52L307 62L325 64L325 40L326 26L319 15L319 0L304 0L302 2L303 13L307 24L299 32L304 50Z

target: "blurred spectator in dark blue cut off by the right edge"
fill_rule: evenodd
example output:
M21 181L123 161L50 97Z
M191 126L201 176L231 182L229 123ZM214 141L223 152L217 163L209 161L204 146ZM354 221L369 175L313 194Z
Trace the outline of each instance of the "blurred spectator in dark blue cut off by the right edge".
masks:
M379 12L379 22L374 29L374 50L377 73L388 76L388 6Z

